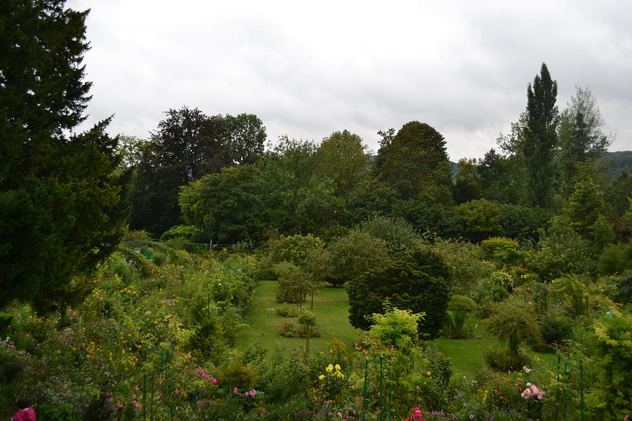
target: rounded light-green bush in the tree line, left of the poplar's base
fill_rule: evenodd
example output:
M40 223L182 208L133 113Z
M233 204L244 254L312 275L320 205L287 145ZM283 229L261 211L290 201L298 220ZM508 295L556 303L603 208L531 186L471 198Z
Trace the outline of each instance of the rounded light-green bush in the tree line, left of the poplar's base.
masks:
M479 199L456 206L463 224L463 235L476 243L502 233L500 208L497 203Z

